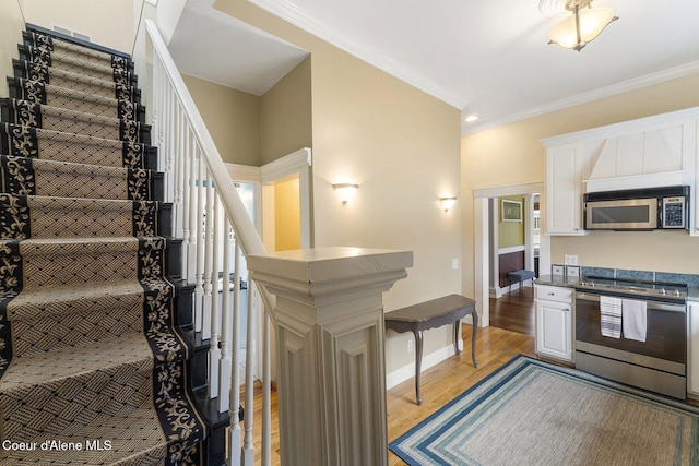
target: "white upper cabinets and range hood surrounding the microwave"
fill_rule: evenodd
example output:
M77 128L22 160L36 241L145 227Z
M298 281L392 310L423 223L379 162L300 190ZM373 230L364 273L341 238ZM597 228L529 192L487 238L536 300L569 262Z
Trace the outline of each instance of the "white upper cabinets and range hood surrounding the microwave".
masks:
M546 146L547 232L584 235L587 192L690 186L690 234L699 235L699 107L542 141Z

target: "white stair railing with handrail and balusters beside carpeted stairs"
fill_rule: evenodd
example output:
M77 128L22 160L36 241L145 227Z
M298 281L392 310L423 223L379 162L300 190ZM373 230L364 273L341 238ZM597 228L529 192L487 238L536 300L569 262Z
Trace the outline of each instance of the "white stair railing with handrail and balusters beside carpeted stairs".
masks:
M262 299L264 312L262 358L262 464L271 462L271 374L269 322L275 298L263 286L248 283L246 373L245 373L245 445L237 422L239 413L238 336L240 270L238 251L244 255L264 253L262 240L248 216L226 166L221 158L179 71L163 41L155 23L145 20L153 46L154 97L153 124L161 143L161 169L165 171L166 199L175 203L175 235L183 236L182 277L194 284L194 331L209 340L209 397L217 398L220 413L228 411L228 464L251 464L254 447L252 428L252 393L254 380L252 355L256 338L253 290ZM230 231L235 237L230 238ZM234 241L232 241L234 240ZM230 243L233 242L233 246ZM233 250L233 252L232 252ZM230 294L230 254L235 261L233 300ZM222 263L223 262L223 263ZM223 279L221 279L223 278ZM223 287L221 287L223 283ZM222 289L220 289L222 288ZM233 303L230 302L233 301Z

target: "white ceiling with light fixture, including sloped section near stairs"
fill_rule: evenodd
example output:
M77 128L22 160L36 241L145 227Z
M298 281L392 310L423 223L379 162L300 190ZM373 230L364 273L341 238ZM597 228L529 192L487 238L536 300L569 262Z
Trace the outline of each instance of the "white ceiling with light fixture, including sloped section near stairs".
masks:
M696 0L595 0L619 20L580 52L547 44L565 0L249 1L478 115L463 133L699 72ZM307 56L212 3L188 0L170 43L185 73L261 95Z

